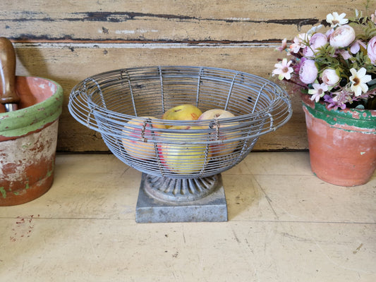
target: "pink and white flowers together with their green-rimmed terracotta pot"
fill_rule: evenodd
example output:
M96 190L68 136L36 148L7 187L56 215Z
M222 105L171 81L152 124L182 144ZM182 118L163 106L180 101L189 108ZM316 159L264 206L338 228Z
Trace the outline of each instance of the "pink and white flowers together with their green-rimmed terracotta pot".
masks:
M329 13L277 49L287 57L272 75L301 94L313 173L335 185L367 183L376 168L376 12Z

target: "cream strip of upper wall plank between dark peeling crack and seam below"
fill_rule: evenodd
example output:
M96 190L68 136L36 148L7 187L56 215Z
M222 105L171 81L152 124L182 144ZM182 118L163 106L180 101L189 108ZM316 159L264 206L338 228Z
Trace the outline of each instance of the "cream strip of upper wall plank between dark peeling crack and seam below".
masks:
M27 25L21 21L12 25L7 22L7 28L0 20L0 28L5 31L6 37L16 42L277 42L284 37L295 35L297 26L300 29L304 25L309 29L317 23L317 20L298 19L283 22L284 32L281 32L281 22L276 21L213 23L200 20L198 24L188 24L174 21L148 21L147 19L135 20L122 27L114 22L69 23L72 25L69 30L61 30L59 21L44 23L35 20L28 22ZM221 27L218 28L218 25ZM39 28L40 26L43 28Z

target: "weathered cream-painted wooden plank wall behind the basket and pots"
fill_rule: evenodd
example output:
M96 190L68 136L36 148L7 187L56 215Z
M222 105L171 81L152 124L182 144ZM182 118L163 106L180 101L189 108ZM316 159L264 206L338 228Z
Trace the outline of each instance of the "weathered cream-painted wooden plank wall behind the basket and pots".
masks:
M98 133L69 114L72 87L89 75L133 66L231 68L271 78L275 47L365 0L2 0L1 35L16 47L17 74L59 82L65 101L58 151L107 151ZM370 1L375 11L376 1ZM255 150L307 149L297 94L293 118L260 138Z

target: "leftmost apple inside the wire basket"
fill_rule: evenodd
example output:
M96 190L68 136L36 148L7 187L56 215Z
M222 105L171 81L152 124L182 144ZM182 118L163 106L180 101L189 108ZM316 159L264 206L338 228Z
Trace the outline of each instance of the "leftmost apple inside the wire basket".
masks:
M153 116L140 116L132 118L123 128L124 149L135 159L152 159L155 157L153 134L157 135L152 128L166 128L162 123L153 122ZM136 139L136 140L135 140Z

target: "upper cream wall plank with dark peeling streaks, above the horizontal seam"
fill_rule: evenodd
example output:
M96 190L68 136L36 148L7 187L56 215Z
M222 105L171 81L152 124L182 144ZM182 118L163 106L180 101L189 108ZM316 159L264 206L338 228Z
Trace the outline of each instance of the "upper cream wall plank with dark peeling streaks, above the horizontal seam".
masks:
M1 1L2 35L20 41L260 42L308 30L364 0Z

